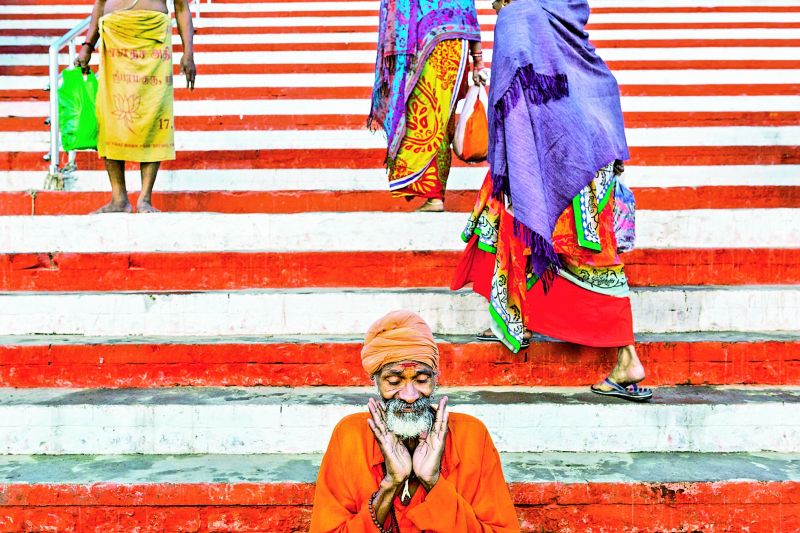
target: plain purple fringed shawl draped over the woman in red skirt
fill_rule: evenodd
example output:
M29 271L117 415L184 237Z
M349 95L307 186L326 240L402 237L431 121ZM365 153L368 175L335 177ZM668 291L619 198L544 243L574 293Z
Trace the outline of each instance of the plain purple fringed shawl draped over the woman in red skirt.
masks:
M619 87L589 43L588 18L586 0L513 0L494 30L492 181L510 196L545 287L559 268L558 217L598 169L628 159Z

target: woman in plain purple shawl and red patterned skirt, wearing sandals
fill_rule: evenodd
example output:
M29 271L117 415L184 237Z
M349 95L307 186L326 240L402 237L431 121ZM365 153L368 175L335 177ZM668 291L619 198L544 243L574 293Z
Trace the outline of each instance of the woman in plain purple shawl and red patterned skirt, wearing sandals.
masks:
M517 352L531 330L617 347L592 391L644 401L628 281L617 251L616 182L628 158L617 81L584 30L585 0L497 0L489 163L451 288L489 301L480 340Z

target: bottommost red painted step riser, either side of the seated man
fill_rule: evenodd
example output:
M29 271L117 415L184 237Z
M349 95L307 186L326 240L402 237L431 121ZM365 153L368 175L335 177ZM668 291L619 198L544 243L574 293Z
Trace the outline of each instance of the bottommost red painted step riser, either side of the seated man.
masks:
M800 483L512 483L522 531L800 531ZM0 485L0 531L307 531L308 483ZM36 527L37 529L29 529Z

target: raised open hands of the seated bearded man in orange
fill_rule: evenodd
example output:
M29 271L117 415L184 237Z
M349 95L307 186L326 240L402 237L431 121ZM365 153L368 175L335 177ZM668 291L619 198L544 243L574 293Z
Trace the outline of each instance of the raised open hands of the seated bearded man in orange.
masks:
M433 427L430 432L420 434L413 457L406 445L386 429L386 412L383 406L374 398L370 398L368 408L372 418L367 420L367 423L383 453L386 480L399 487L413 472L425 490L430 491L439 481L439 470L442 465L447 435L447 397L443 397L439 405L434 408L436 419Z

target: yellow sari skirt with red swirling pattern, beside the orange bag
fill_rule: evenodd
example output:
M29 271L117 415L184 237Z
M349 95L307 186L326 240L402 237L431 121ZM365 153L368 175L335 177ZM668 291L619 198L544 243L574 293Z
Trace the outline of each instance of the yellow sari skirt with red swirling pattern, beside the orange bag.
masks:
M406 131L395 157L389 156L393 196L444 198L450 174L453 113L465 81L467 41L442 41L422 67L408 99Z

